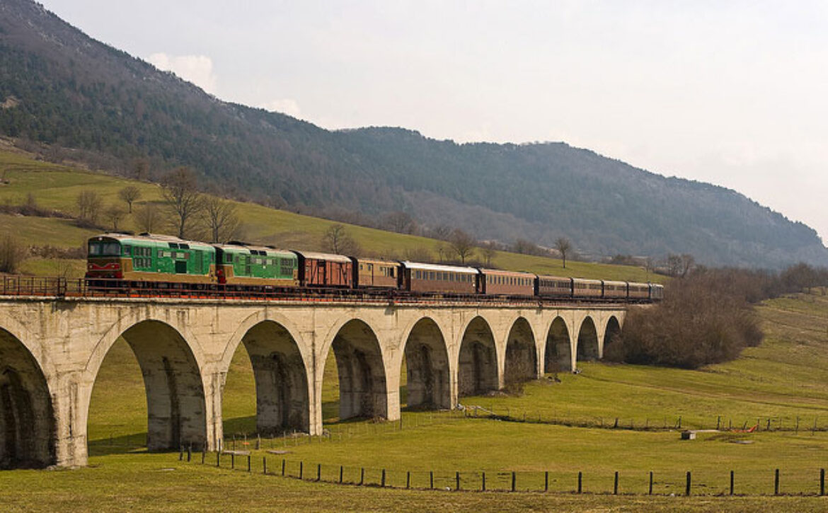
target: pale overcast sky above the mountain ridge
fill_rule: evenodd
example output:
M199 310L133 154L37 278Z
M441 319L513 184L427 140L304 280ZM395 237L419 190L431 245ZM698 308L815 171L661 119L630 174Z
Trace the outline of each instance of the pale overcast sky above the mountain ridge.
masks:
M41 1L224 100L565 141L739 190L828 242L828 2Z

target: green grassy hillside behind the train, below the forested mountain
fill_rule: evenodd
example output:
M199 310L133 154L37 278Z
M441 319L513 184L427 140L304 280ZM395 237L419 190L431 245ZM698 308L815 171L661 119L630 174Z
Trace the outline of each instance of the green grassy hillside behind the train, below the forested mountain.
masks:
M118 199L118 191L127 185L135 185L141 190L141 199L133 205L133 209L139 209L147 202L161 202L161 189L157 185L35 161L29 156L10 151L0 150L0 176L9 182L0 185L0 203L22 204L28 194L33 194L41 207L75 213L75 199L78 194L84 189L94 189L101 195L104 204L121 204L126 207L126 204ZM237 203L237 206L238 217L243 221L245 238L251 242L273 244L277 247L323 249L321 238L325 230L335 223L285 210L268 209L258 204ZM0 214L0 226L3 227L4 233L13 233L26 244L51 244L55 247L79 247L89 236L99 233L96 230L77 228L70 219L6 214ZM126 216L119 228L134 230L132 218ZM373 228L349 226L348 229L359 243L362 252L373 256L402 259L407 252L420 248L426 248L436 255L437 247L445 243ZM564 268L562 262L557 259L509 252L497 252L493 257L493 265L503 269L557 276L632 281L663 280L662 276L652 276L641 267L567 261ZM54 275L55 266L56 264L46 261L27 261L23 271L38 275ZM82 274L83 266L75 264L75 271Z

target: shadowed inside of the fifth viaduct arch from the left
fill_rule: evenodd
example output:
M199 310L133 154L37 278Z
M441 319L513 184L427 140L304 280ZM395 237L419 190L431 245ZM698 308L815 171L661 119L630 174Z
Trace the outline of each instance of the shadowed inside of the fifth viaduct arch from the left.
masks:
M450 409L449 352L440 326L424 317L414 324L403 343L408 407Z

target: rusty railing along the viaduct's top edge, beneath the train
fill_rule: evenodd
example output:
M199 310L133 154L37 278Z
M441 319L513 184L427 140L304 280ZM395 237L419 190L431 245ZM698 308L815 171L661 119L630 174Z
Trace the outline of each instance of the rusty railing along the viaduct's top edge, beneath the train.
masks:
M136 286L139 285L139 286ZM123 280L86 280L41 276L2 276L0 296L27 296L42 298L175 298L181 300L266 300L364 302L385 304L501 304L551 307L573 303L619 304L636 301L599 298L537 298L522 296L486 295L412 295L401 290L352 289L241 289L232 285L195 285L177 283L124 283ZM640 302L640 301L639 301Z

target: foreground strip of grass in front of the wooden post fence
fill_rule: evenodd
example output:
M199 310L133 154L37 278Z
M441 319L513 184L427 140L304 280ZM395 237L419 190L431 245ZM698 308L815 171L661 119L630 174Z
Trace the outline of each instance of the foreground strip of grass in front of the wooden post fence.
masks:
M77 470L4 472L0 496L3 511L767 512L826 507L824 498L803 496L577 496L340 487L180 463L177 454L146 453L92 458L89 467Z

